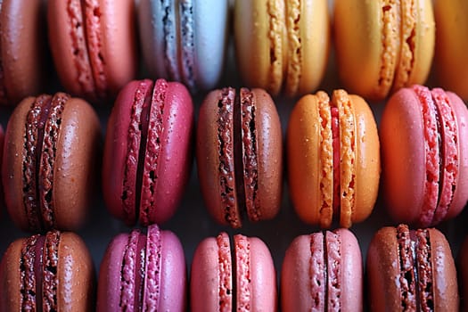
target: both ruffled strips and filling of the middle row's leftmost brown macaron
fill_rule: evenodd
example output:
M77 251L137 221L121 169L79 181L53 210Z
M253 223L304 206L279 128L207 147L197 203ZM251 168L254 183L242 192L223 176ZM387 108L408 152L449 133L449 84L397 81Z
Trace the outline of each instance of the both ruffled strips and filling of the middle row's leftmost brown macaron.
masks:
M31 104L25 123L22 160L23 202L29 227L53 228L53 171L62 111L67 94L40 95Z

